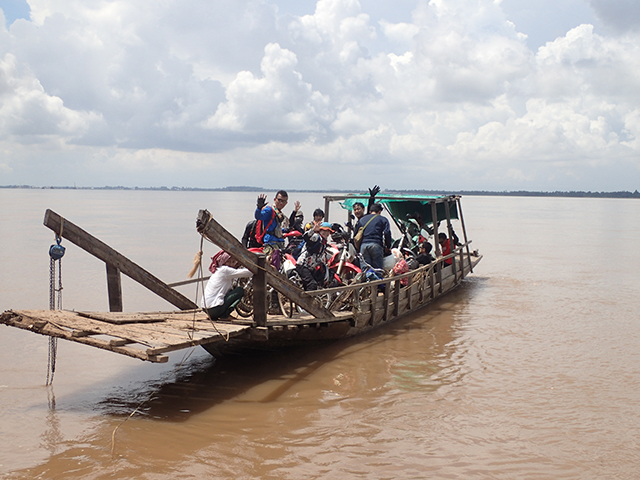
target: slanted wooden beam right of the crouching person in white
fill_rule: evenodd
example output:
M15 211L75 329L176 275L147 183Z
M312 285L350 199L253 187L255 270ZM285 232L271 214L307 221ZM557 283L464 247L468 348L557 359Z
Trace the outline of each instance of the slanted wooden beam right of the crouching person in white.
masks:
M231 235L231 233L229 233L213 218L210 212L207 210L200 210L198 212L196 226L201 235L211 240L229 254L233 255L244 267L249 269L251 273L254 275L258 273L259 267L256 255L245 249L242 244L233 235ZM316 318L333 317L333 313L321 305L318 305L303 290L285 278L284 275L270 267L267 267L262 271L264 271L269 285L285 295L287 298L293 300Z

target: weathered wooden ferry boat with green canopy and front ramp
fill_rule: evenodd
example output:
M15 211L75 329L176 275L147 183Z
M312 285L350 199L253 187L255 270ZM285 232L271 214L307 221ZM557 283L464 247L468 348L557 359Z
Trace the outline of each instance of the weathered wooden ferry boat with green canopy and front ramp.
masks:
M367 198L325 196L326 220L332 203L339 202L349 210L354 202L366 202ZM0 323L151 362L166 362L168 352L196 345L218 355L229 347L279 347L358 335L415 312L450 292L473 272L482 258L477 250L470 248L459 196L379 195L376 201L386 207L398 224L407 213L420 213L424 224L433 229L434 238L438 237L438 228L443 223L440 228L451 237L452 221L458 220L461 242L444 257L440 255L438 243L434 242L436 260L402 275L305 292L285 275L267 266L264 255L245 249L209 211L201 210L196 221L198 232L232 254L254 274L252 317L213 322L175 289L197 280L165 284L88 232L47 210L45 226L105 262L110 312L8 310L0 316ZM451 265L446 265L447 260ZM121 274L139 282L179 310L122 312ZM274 311L270 307L272 295L280 295L289 307L295 305L297 308L288 311L276 308Z

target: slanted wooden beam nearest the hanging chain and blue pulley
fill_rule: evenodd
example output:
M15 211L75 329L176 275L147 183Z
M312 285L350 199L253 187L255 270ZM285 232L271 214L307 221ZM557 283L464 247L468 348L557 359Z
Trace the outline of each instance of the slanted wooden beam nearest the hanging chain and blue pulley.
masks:
M126 276L132 278L140 285L148 288L153 293L164 298L167 302L175 305L179 309L191 310L198 308L198 305L193 303L180 292L169 287L166 283L162 282L160 279L156 278L121 253L117 252L106 243L98 240L88 232L85 232L66 218L62 218L56 212L47 209L44 215L44 225L58 234L62 232L62 237L72 243L75 243L94 257L105 262L107 265L111 265L113 268L124 273Z

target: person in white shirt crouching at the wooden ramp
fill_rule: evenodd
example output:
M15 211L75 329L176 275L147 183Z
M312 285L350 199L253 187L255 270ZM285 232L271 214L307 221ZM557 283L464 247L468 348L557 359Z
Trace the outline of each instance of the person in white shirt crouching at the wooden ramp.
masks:
M211 320L231 317L231 312L244 296L242 287L233 287L236 278L248 278L252 273L239 268L240 263L224 250L211 258L211 277L202 294L202 308ZM233 317L231 317L233 318Z

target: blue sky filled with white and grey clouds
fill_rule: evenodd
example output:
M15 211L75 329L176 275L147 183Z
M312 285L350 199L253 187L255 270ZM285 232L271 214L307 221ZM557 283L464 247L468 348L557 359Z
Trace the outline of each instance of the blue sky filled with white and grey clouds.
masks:
M0 185L640 188L638 0L0 7Z

